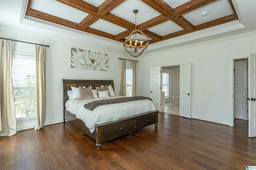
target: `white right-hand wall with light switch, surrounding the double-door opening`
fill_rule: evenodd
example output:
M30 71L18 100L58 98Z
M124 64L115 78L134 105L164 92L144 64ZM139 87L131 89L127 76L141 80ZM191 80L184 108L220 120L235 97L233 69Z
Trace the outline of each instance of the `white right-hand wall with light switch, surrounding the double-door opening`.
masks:
M192 63L192 118L230 125L230 58L249 53L256 53L255 32L142 55L139 95L149 96L151 66ZM223 84L223 88L216 88L216 84Z

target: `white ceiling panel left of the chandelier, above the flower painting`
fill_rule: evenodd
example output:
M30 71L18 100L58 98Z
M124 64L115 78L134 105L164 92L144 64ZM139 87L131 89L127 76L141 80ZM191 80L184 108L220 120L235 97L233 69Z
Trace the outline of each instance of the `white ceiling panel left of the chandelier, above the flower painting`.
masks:
M98 21L94 22L92 25L90 25L90 28L98 29L100 31L104 31L112 35L116 35L126 30L123 27L120 27L118 25L115 25L111 22L108 22L102 19L99 19Z

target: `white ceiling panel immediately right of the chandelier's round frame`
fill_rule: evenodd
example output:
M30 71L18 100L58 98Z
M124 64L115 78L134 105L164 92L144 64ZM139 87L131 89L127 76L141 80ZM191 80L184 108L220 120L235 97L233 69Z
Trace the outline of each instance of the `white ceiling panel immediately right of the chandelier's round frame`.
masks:
M164 36L168 35L170 33L175 33L177 31L182 30L183 28L177 25L176 23L172 21L166 21L164 23L158 24L154 27L149 28L148 30L156 33L158 35Z

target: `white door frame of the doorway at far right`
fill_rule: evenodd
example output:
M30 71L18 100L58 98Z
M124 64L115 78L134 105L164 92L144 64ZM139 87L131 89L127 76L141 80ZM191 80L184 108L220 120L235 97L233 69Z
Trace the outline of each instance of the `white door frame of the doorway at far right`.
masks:
M230 58L230 113L229 113L229 126L234 126L234 60L248 59L249 55L235 56Z

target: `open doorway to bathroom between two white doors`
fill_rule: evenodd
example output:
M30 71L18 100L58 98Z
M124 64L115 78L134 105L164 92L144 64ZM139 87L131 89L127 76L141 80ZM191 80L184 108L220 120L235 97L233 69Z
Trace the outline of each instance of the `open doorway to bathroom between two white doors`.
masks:
M162 67L162 112L180 115L180 65Z

